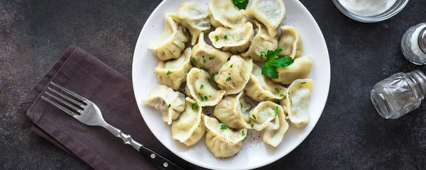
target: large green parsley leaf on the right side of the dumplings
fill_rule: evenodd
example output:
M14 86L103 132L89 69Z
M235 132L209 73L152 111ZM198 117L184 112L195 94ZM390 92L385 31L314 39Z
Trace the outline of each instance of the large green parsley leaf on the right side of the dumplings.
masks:
M262 75L266 77L271 77L273 79L278 79L277 68L288 67L290 64L293 64L295 60L291 57L279 56L278 54L282 52L283 49L277 50L268 50L268 52L261 52L261 54L266 54L266 61L263 62Z

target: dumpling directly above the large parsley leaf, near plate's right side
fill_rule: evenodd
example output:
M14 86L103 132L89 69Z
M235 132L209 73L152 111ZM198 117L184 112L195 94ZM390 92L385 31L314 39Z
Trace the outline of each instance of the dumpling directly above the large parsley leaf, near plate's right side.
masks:
M278 38L278 48L283 49L279 55L297 58L302 54L302 37L293 26L282 26L281 35Z

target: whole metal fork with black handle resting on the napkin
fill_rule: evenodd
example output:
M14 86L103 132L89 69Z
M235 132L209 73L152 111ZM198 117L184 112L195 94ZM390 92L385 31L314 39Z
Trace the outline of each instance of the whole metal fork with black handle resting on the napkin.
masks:
M58 84L55 84L53 82L50 82L50 84L58 87L58 89L60 89L62 91L65 91L65 93L67 95L74 96L75 98L78 98L82 102L76 101L75 99L70 98L69 96L61 93L60 91L57 91L53 88L50 88L49 86L48 86L48 89L45 90L45 94L47 94L48 96L50 96L52 98L55 98L56 101L59 101L63 105L70 107L73 111L70 110L69 108L65 108L64 106L61 106L59 103L56 103L55 101L51 100L50 98L43 96L44 95L43 94L41 96L41 98L43 98L45 101L48 101L49 103L53 104L54 106L60 108L62 111L65 111L65 113L68 113L73 118L79 120L81 123L83 123L85 125L102 126L103 128L109 130L109 132L114 134L116 137L120 137L121 140L124 141L124 143L126 143L127 145L131 145L132 147L137 149L150 162L152 162L153 164L158 166L159 169L179 169L179 170L183 169L182 166L180 166L179 164L176 164L175 162L164 157L163 155L156 152L155 150L153 150L149 147L146 147L144 145L141 145L140 143L133 140L130 135L126 135L123 132L121 132L121 130L114 128L113 126L109 125L107 122L105 122L104 118L102 118L101 111L92 101L89 101L87 98L84 98L84 97L82 97L78 94L75 94L74 92L72 92L68 89L65 89L64 87L62 87ZM48 90L51 91L51 92L49 92ZM65 98L67 101L63 100L62 98L60 98L58 96L62 96L62 98ZM75 104L76 106L79 106L80 108L73 106L72 103ZM77 113L80 113L80 115L75 113L74 111L77 112Z

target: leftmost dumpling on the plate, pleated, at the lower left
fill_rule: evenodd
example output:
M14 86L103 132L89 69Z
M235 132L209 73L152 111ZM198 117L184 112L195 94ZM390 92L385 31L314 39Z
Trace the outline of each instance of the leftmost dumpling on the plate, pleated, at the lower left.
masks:
M160 111L163 121L170 125L185 110L185 94L173 91L168 86L158 85L149 91L148 98L143 99L142 103Z

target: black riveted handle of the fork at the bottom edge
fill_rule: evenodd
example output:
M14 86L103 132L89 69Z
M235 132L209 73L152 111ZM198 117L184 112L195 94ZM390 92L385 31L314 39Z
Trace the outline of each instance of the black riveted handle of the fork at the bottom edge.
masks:
M161 155L160 153L156 152L155 150L153 150L149 147L142 146L139 149L139 152L141 152L141 154L143 154L143 156L145 156L150 162L152 162L153 164L158 166L159 169L163 169L163 170L166 170L166 169L168 169L168 170L185 170L179 164L176 164L172 160L164 157L163 155Z

